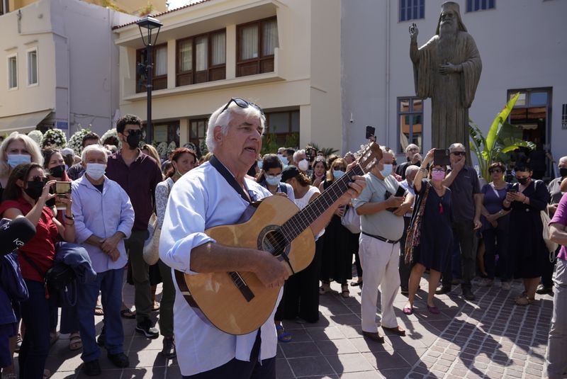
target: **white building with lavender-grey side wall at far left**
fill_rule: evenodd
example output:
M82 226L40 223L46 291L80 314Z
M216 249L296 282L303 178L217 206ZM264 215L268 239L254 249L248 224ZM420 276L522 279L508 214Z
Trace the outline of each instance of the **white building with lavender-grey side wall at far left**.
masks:
M78 0L40 0L0 16L0 134L111 128L119 83L112 27L135 19Z

